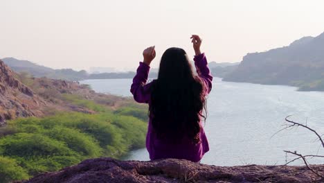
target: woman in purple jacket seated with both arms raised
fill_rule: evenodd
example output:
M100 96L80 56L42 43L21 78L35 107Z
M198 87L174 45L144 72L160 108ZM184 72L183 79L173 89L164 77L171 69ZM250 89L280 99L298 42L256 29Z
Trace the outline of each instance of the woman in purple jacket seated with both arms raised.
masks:
M209 150L201 118L206 120L206 96L213 76L201 53L201 39L192 35L197 75L183 49L170 48L163 53L159 75L147 82L150 63L155 58L154 46L143 51L130 91L138 103L149 104L146 148L150 159L176 158L200 162Z

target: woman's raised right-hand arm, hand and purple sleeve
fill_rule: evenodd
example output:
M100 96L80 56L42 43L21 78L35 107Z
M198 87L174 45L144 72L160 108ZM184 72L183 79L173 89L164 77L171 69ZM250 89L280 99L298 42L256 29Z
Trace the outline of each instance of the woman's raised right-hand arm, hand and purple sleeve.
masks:
M190 37L192 39L192 45L195 50L195 67L197 69L197 73L199 78L204 83L204 93L209 94L212 89L212 81L213 76L210 74L210 70L208 68L208 62L206 59L205 53L201 53L200 46L201 46L201 38L198 35L192 35Z

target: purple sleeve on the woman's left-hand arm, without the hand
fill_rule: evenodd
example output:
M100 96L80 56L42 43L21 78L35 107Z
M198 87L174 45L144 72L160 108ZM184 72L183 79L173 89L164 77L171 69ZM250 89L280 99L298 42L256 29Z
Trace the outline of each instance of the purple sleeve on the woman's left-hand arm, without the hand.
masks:
M148 103L150 101L150 85L152 82L146 84L149 71L150 66L143 62L139 62L130 89L130 92L134 96L134 100L138 103Z

